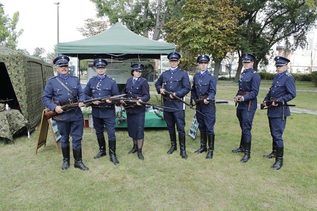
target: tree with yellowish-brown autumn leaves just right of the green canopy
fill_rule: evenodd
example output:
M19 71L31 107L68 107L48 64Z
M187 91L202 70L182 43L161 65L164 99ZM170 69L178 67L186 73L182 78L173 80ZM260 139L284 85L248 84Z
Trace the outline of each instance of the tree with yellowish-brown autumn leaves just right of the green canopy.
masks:
M174 42L184 58L183 66L190 68L198 54L209 54L218 78L220 63L229 51L237 49L238 19L244 14L232 0L186 0L183 17L165 24L170 32L167 42ZM175 24L176 23L176 24ZM179 24L177 24L179 23Z

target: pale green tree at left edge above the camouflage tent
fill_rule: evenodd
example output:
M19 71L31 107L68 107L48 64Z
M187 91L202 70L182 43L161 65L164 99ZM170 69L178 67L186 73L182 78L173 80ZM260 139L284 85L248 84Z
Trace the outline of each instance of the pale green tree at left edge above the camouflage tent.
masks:
M3 4L0 3L0 45L16 49L17 39L23 33L23 29L16 31L16 25L19 21L19 12L13 14L12 19L4 14Z

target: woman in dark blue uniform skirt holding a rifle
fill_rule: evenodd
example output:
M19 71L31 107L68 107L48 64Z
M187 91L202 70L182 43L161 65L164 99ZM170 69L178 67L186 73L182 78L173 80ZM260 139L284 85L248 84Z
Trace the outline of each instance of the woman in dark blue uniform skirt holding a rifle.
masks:
M131 75L133 77L127 80L121 94L127 94L129 98L137 99L143 102L150 100L150 87L148 81L141 77L144 65L133 64L131 65ZM121 100L122 104L125 104ZM137 152L138 158L144 160L142 154L142 147L144 142L144 122L146 107L140 103L133 105L126 105L128 133L133 140L133 148L128 154ZM131 107L129 107L131 106Z

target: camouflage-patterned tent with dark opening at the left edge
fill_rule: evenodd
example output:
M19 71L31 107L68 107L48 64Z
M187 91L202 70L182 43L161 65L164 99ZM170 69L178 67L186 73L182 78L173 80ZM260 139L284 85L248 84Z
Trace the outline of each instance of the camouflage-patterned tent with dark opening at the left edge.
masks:
M0 46L0 99L12 99L8 105L18 109L32 131L45 109L41 102L47 80L53 76L53 64Z

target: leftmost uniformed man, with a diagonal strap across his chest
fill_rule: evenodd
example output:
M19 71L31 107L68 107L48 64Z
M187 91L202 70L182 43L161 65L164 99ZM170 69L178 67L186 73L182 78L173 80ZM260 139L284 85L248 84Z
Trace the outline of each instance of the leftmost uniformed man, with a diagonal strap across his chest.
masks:
M88 170L82 162L81 140L84 130L83 113L79 107L83 107L85 93L81 88L77 77L68 74L68 56L57 56L53 60L56 65L57 76L48 80L42 96L43 104L58 115L55 118L58 131L61 135L60 144L63 154L63 170L69 168L69 135L72 137L74 167ZM52 100L53 99L53 100ZM79 102L77 108L63 111L61 106Z

